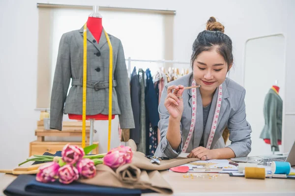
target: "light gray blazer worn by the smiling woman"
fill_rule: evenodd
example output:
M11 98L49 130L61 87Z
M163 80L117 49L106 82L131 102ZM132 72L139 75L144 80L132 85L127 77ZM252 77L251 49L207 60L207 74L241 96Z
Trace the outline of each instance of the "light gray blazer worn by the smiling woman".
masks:
M183 92L183 113L180 121L180 134L181 143L177 150L172 149L168 140L166 139L168 123L169 123L169 112L164 106L164 101L167 96L167 87L170 85L183 85L190 86L192 81L192 74L185 75L175 81L172 81L165 85L161 96L161 102L159 105L160 121L158 126L161 130L161 141L156 149L155 156L166 156L170 158L177 157L184 145L184 142L188 136L191 118L192 118L192 94L191 89L184 90ZM232 141L230 147L236 157L247 156L251 151L251 140L250 133L251 126L246 121L245 113L245 89L239 84L235 83L230 79L226 79L222 84L222 101L220 115L217 122L216 132L212 141L211 149L225 147L224 140L222 138L222 132L227 126L230 131L230 140ZM207 124L203 125L203 104L200 89L197 88L197 115L194 134L188 145L187 153L200 144L201 137L203 135L204 146L207 145L210 129L213 121L213 115L215 112L217 102L217 92L213 95L212 105L207 119ZM205 126L205 130L203 128ZM203 134L204 130L204 134Z

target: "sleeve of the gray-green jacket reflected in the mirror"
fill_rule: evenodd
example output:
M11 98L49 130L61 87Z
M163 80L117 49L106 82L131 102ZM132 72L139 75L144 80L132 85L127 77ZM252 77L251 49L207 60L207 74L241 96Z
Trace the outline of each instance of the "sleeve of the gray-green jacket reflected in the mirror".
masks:
M277 129L277 99L274 94L269 93L266 100L266 125L269 131L269 139L271 146L275 147L275 150L279 150L278 145L278 129Z

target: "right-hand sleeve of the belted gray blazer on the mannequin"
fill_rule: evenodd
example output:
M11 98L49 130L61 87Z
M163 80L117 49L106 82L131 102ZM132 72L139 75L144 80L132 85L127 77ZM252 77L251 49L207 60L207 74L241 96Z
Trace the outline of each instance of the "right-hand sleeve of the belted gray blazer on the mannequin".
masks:
M121 129L133 129L135 128L135 125L131 107L130 85L121 41L119 41L117 64L114 75L117 80L117 86L115 89L118 96L118 105L121 111L121 114L119 115Z

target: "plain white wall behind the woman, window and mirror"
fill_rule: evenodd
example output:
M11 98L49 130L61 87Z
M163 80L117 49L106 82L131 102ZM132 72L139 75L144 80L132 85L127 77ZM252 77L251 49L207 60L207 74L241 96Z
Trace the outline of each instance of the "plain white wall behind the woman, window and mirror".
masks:
M0 112L0 156L6 157L6 161L0 162L0 168L14 167L27 158L29 142L35 140L34 129L39 117L39 112L34 111L37 81L37 2L46 3L48 1L0 1L0 103L2 109ZM92 5L95 2L99 2L101 6L176 10L174 59L179 61L189 61L192 43L198 32L205 28L210 16L215 16L225 26L225 33L233 40L236 65L230 77L239 84L242 84L242 52L246 39L284 32L288 36L288 41L293 43L287 48L289 50L287 62L290 63L289 68L294 70L294 66L291 67L291 64L295 62L293 52L291 52L295 46L295 29L290 27L295 24L294 13L293 15L290 13L295 8L292 0L267 0L267 2L265 0L52 1L52 3L85 5ZM290 17L287 17L287 8ZM288 75L288 81L292 82L289 86L295 89L291 74ZM288 131L293 130L288 129ZM106 140L107 134L99 137L101 143ZM288 138L285 140L287 141Z

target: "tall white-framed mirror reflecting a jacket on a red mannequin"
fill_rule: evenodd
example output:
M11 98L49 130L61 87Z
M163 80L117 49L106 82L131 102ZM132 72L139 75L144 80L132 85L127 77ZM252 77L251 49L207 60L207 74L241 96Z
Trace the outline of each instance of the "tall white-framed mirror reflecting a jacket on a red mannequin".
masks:
M269 142L273 138L280 140L282 138L280 125L282 108L280 107L284 104L285 95L285 37L283 34L256 37L246 41L244 87L247 121L252 127L252 151L248 156L278 154L282 145L278 145L275 149ZM272 124L274 126L270 125L271 121L274 121Z

